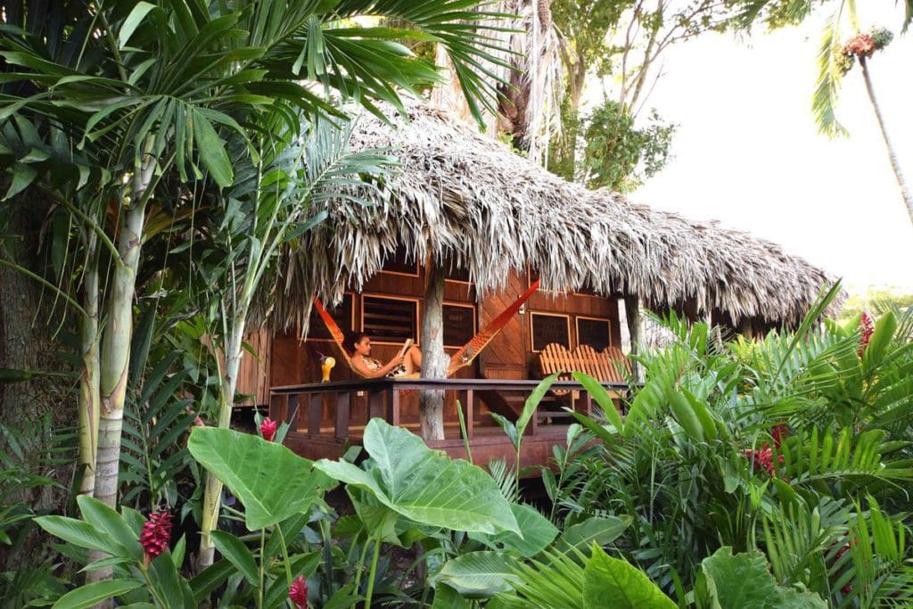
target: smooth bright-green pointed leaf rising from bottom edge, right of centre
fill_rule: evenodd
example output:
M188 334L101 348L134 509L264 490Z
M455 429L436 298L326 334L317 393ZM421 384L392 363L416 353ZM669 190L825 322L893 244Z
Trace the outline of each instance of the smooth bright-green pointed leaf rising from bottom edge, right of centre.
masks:
M583 570L583 604L587 609L675 609L662 590L632 564L612 558L593 544ZM738 607L740 605L726 605Z

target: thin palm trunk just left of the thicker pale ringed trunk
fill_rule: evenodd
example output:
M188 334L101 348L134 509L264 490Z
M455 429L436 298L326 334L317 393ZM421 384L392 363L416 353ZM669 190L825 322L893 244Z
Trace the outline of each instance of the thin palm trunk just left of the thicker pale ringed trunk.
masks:
M99 381L99 257L97 236L91 234L87 244L86 277L83 279L82 371L79 376L79 467L82 468L80 495L95 492L95 468L98 458L100 381Z

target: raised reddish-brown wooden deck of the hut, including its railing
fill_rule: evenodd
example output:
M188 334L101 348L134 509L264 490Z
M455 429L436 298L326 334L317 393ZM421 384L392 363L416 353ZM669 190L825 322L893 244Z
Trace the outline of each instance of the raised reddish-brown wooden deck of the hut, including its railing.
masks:
M509 395L514 396L512 402L517 403L519 398L525 400L538 384L536 380L383 378L288 385L270 390L269 415L274 420L289 423L291 429L285 444L300 456L339 458L349 446L361 443L364 426L374 417L417 434L417 417L410 415L411 409L401 408L401 395L421 389L444 390L451 394L452 402L456 397L456 404L463 410L472 460L477 465L485 465L491 459L502 458L512 466L514 448L508 436L488 415L484 400L479 404L480 396ZM624 383L603 383L603 386L616 394L627 391ZM590 396L581 391L580 383L561 381L552 387L558 393L570 394L560 401L550 397L532 417L523 439L520 467L547 464L552 456L552 446L565 443L571 416L563 406L590 413ZM574 395L579 397L574 398ZM517 412L519 409L502 414L515 419ZM446 417L445 438L428 442L428 446L443 450L450 457L467 458L456 413ZM531 475L538 475L538 472Z

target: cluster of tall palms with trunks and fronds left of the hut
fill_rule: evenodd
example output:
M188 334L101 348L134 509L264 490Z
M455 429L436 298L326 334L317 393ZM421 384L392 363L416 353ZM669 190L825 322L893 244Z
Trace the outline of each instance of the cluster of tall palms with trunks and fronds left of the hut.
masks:
M128 465L147 466L149 490L157 495L153 470L181 458L180 452L166 456L158 447L140 446L131 434L142 435L144 425L164 414L140 411L159 411L165 404L157 398L171 399L156 394L152 403L133 404L132 415L127 408L128 394L152 397L128 389L144 373L145 354L134 347L148 346L142 341L150 338L136 335L133 324L134 301L151 287L140 281L142 273L152 265L160 274L150 279L160 289L178 281L213 288L192 289L201 298L187 308L199 309L182 314L202 318L198 326L221 355L215 360L218 400L205 415L227 426L250 303L278 247L320 220L308 215L315 197L340 194L341 185L389 164L383 156L347 155L320 124L345 118L341 101L375 113L378 100L401 109L398 91L436 82L435 67L415 58L402 39L436 42L476 115L479 105L490 107L494 91L482 79L484 68L477 68L497 59L489 55L487 26L480 23L490 15L468 10L476 4L123 0L88 8L81 2L5 6L5 199L32 186L55 204L55 251L64 254L55 267L56 291L72 305L82 330L84 493L115 506L123 454ZM356 26L358 16L409 27ZM301 145L305 135L317 143ZM220 220L197 224L197 214ZM226 255L188 266L184 277L170 273L171 257L192 247L201 230L211 241L209 253ZM214 311L203 302L225 306ZM177 391L179 371L163 366L155 372L156 380L168 376L166 386ZM180 402L167 404L173 416L164 418L177 425L165 436L171 441L193 419L180 414ZM149 431L163 433L161 425ZM207 533L218 517L220 489L207 478L202 566L211 562Z

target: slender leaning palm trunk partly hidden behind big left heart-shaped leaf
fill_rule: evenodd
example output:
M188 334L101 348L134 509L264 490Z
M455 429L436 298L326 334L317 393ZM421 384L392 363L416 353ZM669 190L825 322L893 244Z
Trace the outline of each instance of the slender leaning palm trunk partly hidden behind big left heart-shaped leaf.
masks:
M218 426L227 429L231 423L231 413L235 389L237 386L237 373L241 367L242 345L244 330L247 322L247 308L237 314L232 322L231 336L225 348L225 372L222 374L222 386L219 399ZM203 517L200 532L200 551L196 556L197 572L210 566L215 559L215 545L209 536L210 531L218 527L219 509L222 505L222 482L215 478L212 472L206 472L206 486L203 495Z

